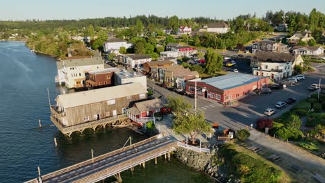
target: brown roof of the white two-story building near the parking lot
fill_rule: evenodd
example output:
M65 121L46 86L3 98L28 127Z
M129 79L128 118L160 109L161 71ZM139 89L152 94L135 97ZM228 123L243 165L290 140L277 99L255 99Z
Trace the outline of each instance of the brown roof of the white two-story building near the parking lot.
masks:
M276 53L267 51L258 51L253 58L259 61L267 62L268 60L280 61L280 62L294 62L294 55L290 53Z

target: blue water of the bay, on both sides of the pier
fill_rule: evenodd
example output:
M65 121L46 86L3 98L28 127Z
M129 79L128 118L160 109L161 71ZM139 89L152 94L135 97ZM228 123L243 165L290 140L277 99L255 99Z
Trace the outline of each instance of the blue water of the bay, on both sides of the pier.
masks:
M49 120L49 101L65 91L56 87L56 60L36 55L22 42L0 42L0 182L24 182L60 168L122 148L128 137L133 142L146 137L128 130L106 129L67 139ZM42 128L38 128L38 119ZM58 139L58 147L53 138ZM122 173L123 182L211 182L175 159L136 167L135 175Z

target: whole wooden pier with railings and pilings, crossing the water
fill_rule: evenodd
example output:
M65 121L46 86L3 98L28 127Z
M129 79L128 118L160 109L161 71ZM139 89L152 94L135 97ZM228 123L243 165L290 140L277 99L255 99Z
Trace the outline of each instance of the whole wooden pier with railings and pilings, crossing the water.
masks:
M145 162L150 159L165 155L165 158L170 158L170 152L176 150L176 147L188 148L202 153L209 153L206 148L197 148L188 146L179 141L174 141L165 134L158 134L144 141L134 143L131 146L114 150L94 159L88 159L85 162L63 168L59 171L42 175L30 182L98 182L105 180L107 177L114 176L119 182L122 182L120 173L137 165L144 167ZM40 181L41 180L41 181Z

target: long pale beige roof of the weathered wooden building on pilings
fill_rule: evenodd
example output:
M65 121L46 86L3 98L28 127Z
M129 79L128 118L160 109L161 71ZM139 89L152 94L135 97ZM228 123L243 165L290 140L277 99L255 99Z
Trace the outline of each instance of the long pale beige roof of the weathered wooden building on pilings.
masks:
M115 87L92 89L85 92L62 94L56 97L56 101L60 101L63 107L69 108L80 105L88 105L90 103L110 101L116 98L138 94L147 94L147 88L143 85L139 85L139 83L131 83Z

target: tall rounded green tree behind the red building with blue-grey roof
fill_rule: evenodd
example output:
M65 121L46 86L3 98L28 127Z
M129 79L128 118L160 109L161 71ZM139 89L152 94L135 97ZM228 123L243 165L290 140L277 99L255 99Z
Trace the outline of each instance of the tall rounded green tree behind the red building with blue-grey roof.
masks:
M206 72L215 73L222 70L223 58L222 55L215 52L213 49L208 49L206 55Z

